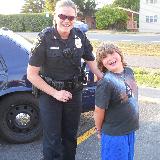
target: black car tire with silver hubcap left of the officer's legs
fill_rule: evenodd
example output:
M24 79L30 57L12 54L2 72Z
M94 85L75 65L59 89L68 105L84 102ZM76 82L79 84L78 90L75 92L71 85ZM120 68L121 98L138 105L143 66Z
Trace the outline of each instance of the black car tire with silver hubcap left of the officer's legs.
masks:
M30 93L6 96L0 102L0 134L11 143L27 143L42 135L38 101Z

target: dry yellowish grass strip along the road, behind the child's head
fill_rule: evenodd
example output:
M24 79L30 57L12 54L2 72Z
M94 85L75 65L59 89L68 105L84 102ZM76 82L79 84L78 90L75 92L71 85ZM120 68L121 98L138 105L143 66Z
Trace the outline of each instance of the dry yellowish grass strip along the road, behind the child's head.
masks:
M102 41L91 41L94 52ZM111 43L111 42L108 42ZM112 42L125 55L160 56L160 43Z

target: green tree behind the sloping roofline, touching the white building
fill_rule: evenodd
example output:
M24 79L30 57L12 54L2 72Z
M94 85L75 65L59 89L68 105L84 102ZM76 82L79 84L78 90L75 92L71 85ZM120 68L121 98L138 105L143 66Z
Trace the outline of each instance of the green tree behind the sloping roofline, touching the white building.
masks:
M127 9L129 8L138 12L140 7L140 0L115 0L113 5Z

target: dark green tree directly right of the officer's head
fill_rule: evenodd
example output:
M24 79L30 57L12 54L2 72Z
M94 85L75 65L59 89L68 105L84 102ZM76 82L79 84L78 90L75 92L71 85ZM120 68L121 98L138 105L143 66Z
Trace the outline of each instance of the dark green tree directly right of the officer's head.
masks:
M83 13L83 16L93 16L96 12L95 0L73 0L77 5L78 10Z

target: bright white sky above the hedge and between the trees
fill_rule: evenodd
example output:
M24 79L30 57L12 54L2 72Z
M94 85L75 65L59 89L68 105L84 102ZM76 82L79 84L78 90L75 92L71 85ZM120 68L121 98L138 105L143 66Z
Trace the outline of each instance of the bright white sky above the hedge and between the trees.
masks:
M99 6L110 4L113 0L96 0ZM20 13L24 0L0 0L0 14ZM98 6L98 8L99 8Z

